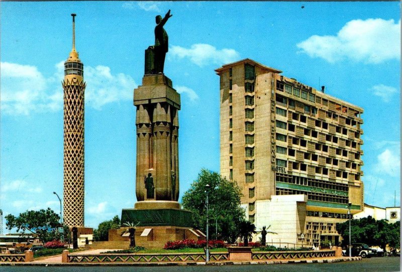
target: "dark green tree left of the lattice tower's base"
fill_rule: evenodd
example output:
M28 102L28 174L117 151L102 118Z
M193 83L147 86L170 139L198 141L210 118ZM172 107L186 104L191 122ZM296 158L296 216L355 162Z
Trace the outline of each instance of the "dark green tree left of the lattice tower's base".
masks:
M28 230L37 235L43 243L57 239L57 227L60 226L60 217L50 208L47 208L47 210L26 211L20 213L18 217L9 214L5 218L7 220L6 227L9 230L17 228L17 232L22 230L23 233Z

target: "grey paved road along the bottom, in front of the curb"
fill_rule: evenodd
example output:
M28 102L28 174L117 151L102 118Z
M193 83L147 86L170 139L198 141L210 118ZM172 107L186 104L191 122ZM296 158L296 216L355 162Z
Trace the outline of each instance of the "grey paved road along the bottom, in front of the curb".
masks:
M400 258L399 257L374 257L371 259L363 259L361 261L344 261L335 263L302 263L302 264L253 264L253 265L222 265L222 266L158 266L158 267L138 267L138 266L0 266L0 271L14 272L177 272L177 271L275 271L275 272L288 272L288 271L314 271L314 272L387 272L387 271L400 271Z

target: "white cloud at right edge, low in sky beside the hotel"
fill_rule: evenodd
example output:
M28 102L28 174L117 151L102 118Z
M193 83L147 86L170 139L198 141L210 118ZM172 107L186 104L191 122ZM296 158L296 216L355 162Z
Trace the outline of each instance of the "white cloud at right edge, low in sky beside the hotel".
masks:
M400 172L400 146L398 149L385 149L377 156L375 172L398 176Z

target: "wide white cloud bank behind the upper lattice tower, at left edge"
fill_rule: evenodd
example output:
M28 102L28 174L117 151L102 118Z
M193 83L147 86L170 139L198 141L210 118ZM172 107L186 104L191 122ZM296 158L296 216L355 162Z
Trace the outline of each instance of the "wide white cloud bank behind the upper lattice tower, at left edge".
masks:
M55 65L53 75L44 77L37 67L17 63L0 63L1 108L8 115L56 112L63 109L64 61ZM113 74L107 66L84 67L85 103L101 109L104 105L132 100L134 79L123 73Z

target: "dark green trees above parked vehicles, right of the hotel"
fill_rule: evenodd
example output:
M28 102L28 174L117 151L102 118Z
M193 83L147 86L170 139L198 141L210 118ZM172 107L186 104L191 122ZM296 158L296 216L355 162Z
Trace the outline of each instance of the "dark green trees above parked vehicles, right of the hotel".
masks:
M351 242L378 245L385 250L388 244L400 247L400 222L389 224L386 220L375 220L371 216L351 220ZM338 223L336 229L341 234L345 246L349 244L349 220Z

